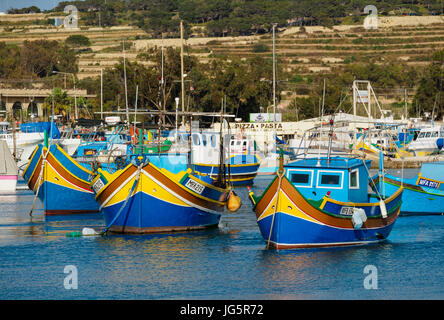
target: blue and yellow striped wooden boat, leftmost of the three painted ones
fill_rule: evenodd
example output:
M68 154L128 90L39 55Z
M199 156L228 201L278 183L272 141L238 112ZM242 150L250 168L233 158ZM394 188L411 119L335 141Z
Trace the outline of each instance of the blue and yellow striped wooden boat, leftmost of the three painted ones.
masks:
M35 148L23 172L28 187L43 202L45 215L98 212L91 175L60 146L48 146L47 139Z

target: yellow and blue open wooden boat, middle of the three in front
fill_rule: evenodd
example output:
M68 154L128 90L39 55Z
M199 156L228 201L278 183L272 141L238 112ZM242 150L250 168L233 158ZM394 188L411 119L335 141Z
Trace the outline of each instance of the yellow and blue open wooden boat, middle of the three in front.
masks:
M104 214L105 231L116 233L215 227L232 194L222 180L215 183L191 169L175 174L144 155L113 174L98 169L91 186Z

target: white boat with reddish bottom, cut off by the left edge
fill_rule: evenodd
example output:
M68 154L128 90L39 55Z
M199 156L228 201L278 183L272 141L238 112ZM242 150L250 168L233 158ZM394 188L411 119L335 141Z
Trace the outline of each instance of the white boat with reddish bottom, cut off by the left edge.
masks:
M14 192L18 168L6 141L0 140L0 192Z

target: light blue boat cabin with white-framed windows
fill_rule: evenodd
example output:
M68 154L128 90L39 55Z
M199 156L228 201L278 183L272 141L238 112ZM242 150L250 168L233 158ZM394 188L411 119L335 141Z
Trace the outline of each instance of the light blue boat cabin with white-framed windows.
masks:
M307 199L325 195L344 202L368 202L371 160L344 157L307 158L284 166L285 176Z

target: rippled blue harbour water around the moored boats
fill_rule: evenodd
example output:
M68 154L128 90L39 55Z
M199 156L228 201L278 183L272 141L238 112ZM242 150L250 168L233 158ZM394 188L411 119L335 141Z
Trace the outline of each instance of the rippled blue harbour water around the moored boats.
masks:
M270 177L257 177L259 194ZM71 238L99 215L29 216L29 190L0 195L0 299L443 299L444 216L400 217L370 246L267 250L244 187L219 228ZM366 289L370 273L377 289ZM77 289L65 289L75 266ZM376 272L375 272L376 271ZM375 281L376 281L375 280ZM368 281L368 278L367 278Z

